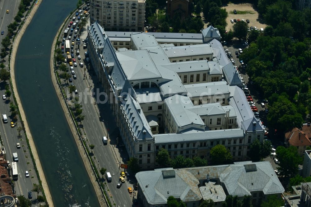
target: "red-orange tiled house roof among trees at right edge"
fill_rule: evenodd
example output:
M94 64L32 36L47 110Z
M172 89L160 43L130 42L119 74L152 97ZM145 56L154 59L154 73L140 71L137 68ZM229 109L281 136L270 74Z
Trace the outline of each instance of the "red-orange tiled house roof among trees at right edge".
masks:
M310 146L309 137L298 128L293 128L292 131L285 133L286 142L292 146Z

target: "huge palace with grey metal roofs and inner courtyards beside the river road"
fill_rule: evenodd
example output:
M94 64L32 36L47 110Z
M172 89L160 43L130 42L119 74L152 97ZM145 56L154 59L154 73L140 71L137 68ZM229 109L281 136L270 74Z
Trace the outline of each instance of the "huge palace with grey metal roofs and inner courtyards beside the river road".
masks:
M170 44L168 53L155 35L140 32L129 38L130 49L116 52L99 23L88 27L91 63L111 97L129 156L137 158L142 169L152 169L160 148L172 158L181 154L210 160L210 149L221 144L234 160L249 159L250 144L262 142L264 130L220 42L214 38L190 47ZM173 62L174 51L179 54L174 58L203 54L204 59Z

